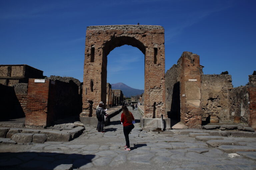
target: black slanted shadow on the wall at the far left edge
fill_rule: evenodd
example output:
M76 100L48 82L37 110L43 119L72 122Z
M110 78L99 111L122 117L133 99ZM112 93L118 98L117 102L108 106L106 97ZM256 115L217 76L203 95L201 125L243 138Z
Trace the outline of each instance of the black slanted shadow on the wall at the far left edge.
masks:
M25 117L13 86L0 84L0 120Z

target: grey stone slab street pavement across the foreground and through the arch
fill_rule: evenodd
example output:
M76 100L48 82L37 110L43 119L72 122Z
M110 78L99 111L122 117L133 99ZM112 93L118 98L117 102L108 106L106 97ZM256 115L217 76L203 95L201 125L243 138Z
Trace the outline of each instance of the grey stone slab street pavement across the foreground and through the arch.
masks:
M97 132L92 126L85 126L84 133L69 142L24 145L0 143L0 169L256 169L256 138L223 137L223 140L234 141L238 147L219 146L221 150L208 146L206 141L189 137L188 133L141 131L141 113L128 108L136 119L135 128L129 135L131 151L123 150L125 138L120 113L111 118L110 125L104 128L105 133ZM224 149L232 150L240 156L230 158Z

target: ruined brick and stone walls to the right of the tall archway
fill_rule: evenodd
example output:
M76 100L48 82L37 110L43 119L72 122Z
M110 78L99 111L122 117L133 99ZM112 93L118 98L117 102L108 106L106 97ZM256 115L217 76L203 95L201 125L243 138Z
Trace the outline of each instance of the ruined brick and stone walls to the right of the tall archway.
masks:
M249 75L247 85L233 88L231 75L204 75L202 69L197 54L183 52L166 72L168 118L181 121L186 128L201 128L211 117L222 122L234 122L238 117L256 128L256 75Z

